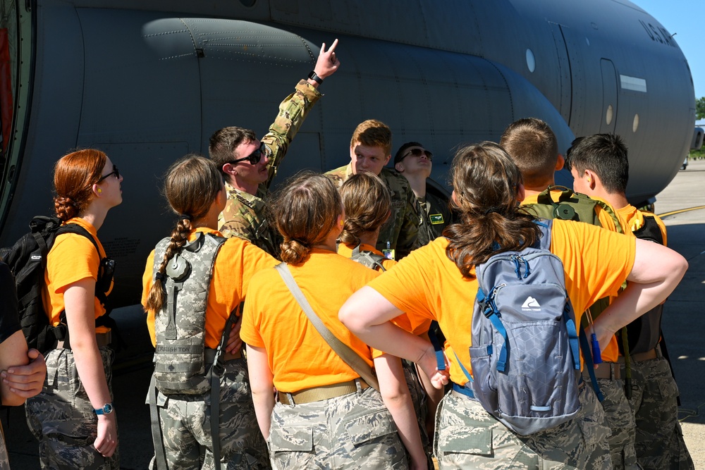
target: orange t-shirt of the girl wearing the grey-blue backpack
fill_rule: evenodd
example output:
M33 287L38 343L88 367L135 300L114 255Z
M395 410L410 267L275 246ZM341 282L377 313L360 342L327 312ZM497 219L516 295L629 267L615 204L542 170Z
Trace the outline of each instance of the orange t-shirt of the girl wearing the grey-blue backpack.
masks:
M448 240L438 238L416 249L369 286L398 309L409 312L412 326L425 319L438 321L453 352L470 370L467 348L472 345L470 326L477 280L462 277L446 256L447 246ZM555 220L551 252L563 261L565 287L580 322L589 305L619 290L634 264L635 240L587 223ZM449 354L448 360L450 379L465 383L455 355Z

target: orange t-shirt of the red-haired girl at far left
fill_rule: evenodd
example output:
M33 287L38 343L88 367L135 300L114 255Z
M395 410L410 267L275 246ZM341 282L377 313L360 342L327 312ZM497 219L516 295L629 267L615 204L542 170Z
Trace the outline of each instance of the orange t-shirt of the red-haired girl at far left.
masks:
M47 269L44 271L44 286L42 287L42 303L44 310L49 312L49 323L59 325L61 312L66 309L63 303L63 293L66 288L79 280L92 278L98 280L100 259L104 258L105 249L98 240L95 227L85 219L74 217L66 223L75 223L85 228L96 243L100 253L95 251L93 243L83 235L63 233L56 237L47 255ZM66 225L66 223L62 225ZM110 290L113 285L111 283ZM110 290L108 293L110 293ZM93 298L95 318L105 314L105 308L97 298ZM106 326L96 327L96 333L106 333Z

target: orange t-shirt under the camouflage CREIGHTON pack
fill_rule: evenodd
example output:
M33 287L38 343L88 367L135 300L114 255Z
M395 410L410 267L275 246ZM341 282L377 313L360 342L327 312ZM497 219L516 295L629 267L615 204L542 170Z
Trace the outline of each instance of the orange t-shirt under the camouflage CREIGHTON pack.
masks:
M188 235L188 240L196 239L197 233L212 233L222 236L218 230L197 228ZM213 266L213 277L206 300L206 347L215 349L223 335L223 328L231 311L239 307L245 299L247 285L257 271L278 264L273 256L242 238L228 238L221 246ZM149 289L154 282L154 250L147 258L147 266L142 276L142 307L147 303ZM145 308L145 310L147 310ZM240 312L238 312L240 315ZM154 311L147 311L147 328L152 345L157 345L154 331Z

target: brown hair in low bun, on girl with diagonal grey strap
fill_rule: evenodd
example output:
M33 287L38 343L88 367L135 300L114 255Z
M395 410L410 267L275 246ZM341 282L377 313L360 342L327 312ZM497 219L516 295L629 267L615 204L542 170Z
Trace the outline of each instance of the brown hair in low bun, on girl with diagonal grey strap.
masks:
M305 171L288 180L276 194L271 213L284 237L281 261L298 265L335 228L343 213L343 201L329 178Z

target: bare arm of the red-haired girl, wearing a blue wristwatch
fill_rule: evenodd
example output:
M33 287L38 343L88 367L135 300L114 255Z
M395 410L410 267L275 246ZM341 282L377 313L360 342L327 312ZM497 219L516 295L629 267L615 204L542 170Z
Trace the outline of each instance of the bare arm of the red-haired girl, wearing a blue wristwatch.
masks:
M88 399L95 409L111 403L103 361L95 340L95 280L84 278L68 285L63 293L66 323L76 369ZM118 446L115 412L98 415L98 437L93 443L104 457L110 457Z

